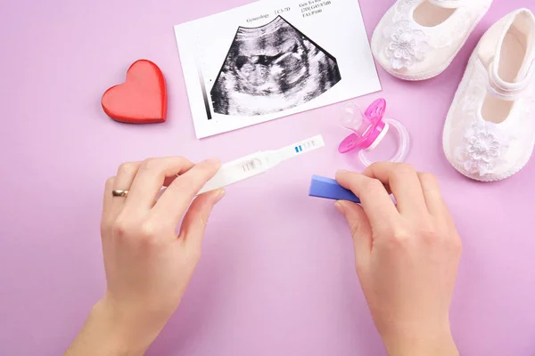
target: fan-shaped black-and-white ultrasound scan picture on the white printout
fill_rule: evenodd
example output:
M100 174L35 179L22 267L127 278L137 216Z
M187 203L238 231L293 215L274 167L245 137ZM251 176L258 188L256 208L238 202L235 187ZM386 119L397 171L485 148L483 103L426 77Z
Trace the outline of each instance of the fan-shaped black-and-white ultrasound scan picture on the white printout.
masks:
M336 59L279 16L238 28L210 95L218 114L258 116L311 101L340 80Z

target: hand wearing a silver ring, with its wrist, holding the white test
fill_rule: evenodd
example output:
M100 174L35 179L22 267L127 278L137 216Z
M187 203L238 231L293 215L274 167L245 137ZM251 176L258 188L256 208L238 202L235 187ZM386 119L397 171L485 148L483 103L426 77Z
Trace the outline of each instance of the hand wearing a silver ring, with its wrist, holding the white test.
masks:
M66 355L144 354L193 277L210 212L225 191L195 196L220 166L218 159L194 165L182 157L119 166L103 199L107 291Z

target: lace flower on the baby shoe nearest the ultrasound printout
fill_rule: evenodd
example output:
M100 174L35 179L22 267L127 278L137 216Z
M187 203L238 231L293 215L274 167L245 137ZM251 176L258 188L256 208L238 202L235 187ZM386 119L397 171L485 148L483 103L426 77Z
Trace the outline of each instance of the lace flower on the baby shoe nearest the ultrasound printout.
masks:
M429 49L424 32L410 28L410 22L406 20L386 28L384 36L390 41L385 53L392 69L409 69L416 61L423 61Z

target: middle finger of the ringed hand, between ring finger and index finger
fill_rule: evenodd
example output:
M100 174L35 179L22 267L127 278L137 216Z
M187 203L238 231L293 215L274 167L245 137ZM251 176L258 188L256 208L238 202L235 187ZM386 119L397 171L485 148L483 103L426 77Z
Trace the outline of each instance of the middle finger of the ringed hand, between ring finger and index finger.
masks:
M151 209L166 178L184 174L192 167L193 163L183 157L145 159L128 193L128 209Z

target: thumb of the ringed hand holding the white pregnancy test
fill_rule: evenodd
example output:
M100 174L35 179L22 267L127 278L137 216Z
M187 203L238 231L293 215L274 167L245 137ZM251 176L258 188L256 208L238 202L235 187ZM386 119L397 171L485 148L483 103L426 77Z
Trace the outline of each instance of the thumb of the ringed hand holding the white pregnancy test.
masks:
M202 238L208 224L212 208L225 196L225 190L213 190L200 195L193 200L185 213L180 228L180 238L184 239L187 248L198 251L202 247Z

